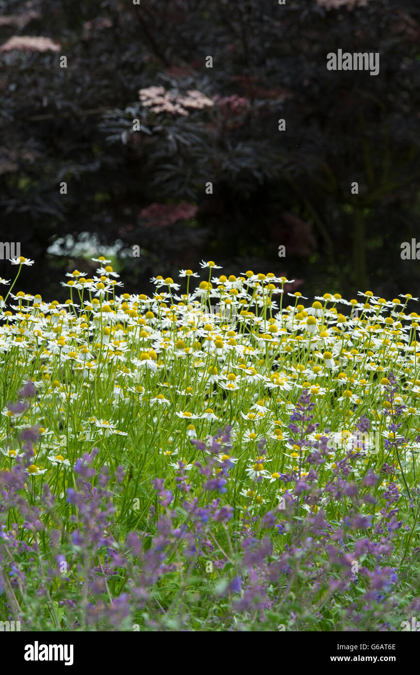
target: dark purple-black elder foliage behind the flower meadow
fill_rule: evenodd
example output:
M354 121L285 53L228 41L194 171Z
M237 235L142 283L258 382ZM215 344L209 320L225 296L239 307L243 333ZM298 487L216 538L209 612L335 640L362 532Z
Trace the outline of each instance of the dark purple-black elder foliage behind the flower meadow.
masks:
M119 242L138 291L214 259L308 294L417 296L420 262L400 246L420 241L420 5L325 3L0 0L1 240L36 261L20 288L58 299L64 271L94 269L71 243L93 233ZM12 36L57 51L9 50ZM328 71L338 49L379 52L379 75ZM138 95L151 86L214 105L154 112Z

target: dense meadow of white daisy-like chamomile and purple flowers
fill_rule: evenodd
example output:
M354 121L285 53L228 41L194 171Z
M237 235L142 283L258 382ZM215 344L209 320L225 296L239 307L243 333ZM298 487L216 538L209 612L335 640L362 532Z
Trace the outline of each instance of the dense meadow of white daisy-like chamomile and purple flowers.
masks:
M138 295L96 262L64 303L0 279L0 620L402 630L420 613L418 298L312 301L213 261Z

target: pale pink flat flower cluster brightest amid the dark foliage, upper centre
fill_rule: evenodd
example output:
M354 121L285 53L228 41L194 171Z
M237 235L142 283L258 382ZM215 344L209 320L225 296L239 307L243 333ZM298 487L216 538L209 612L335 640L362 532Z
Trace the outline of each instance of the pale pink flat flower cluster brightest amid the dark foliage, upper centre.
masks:
M202 110L214 105L212 99L196 89L189 89L186 94L180 94L176 90L166 90L163 86L149 86L139 89L138 94L142 106L150 108L155 113L188 116L190 113L187 108Z

